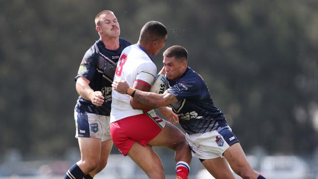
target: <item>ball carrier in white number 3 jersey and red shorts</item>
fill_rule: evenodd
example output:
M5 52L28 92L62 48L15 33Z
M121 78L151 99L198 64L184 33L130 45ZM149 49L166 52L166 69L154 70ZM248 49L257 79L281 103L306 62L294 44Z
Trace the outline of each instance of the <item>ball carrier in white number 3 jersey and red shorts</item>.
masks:
M167 30L162 23L147 22L138 43L121 53L114 80L126 80L138 90L149 91L157 74L150 55L157 55L166 40ZM187 179L191 154L184 134L136 99L116 91L112 97L110 128L119 151L131 157L149 178L164 179L162 163L152 146L166 146L176 151L177 179ZM159 110L168 119L177 118L170 108Z

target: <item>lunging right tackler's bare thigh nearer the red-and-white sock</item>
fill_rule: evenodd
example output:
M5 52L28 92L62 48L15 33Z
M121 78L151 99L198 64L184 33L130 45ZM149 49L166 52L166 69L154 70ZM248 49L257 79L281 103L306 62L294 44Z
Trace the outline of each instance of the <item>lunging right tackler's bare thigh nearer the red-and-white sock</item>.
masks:
M202 162L206 170L216 179L234 179L225 158L217 157Z

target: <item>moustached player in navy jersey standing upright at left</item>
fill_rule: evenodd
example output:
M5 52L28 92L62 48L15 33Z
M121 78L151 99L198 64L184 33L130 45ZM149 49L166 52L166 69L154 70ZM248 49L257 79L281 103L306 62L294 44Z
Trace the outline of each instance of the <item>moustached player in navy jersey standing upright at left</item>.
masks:
M112 82L121 51L131 45L119 38L120 28L114 13L102 11L95 17L100 39L85 53L75 77L80 95L75 106L76 137L81 160L64 179L92 179L107 163L113 141L110 134Z

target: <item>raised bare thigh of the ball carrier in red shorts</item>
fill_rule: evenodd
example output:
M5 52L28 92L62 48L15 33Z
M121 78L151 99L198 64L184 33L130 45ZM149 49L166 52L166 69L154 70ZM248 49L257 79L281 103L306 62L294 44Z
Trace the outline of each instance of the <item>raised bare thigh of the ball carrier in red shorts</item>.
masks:
M175 149L176 146L185 141L185 135L180 129L170 122L166 122L163 130L152 140L149 145L152 146L166 146L170 149Z

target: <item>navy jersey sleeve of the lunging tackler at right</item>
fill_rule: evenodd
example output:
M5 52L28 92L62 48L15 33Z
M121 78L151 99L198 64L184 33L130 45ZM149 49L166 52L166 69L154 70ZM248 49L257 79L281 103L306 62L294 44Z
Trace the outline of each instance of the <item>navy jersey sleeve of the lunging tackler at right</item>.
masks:
M200 99L201 87L201 83L196 80L180 81L165 90L165 92L174 95L178 101L182 101L183 99Z

